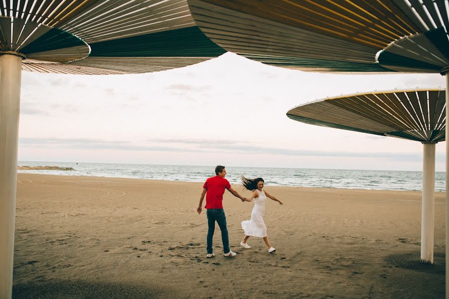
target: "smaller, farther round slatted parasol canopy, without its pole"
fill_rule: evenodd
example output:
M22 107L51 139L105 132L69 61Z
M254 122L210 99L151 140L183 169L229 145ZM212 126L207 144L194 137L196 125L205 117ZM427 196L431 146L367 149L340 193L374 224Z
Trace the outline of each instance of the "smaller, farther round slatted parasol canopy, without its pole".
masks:
M287 112L295 121L404 138L423 143L445 141L446 91L376 91L326 98Z

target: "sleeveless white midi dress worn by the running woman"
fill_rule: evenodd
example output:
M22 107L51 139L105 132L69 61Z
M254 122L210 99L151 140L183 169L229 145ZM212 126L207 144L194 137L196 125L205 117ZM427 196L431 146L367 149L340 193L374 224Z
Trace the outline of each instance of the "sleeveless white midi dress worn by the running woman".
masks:
M252 208L251 219L241 222L241 228L246 236L263 238L266 237L266 226L263 222L263 213L265 212L265 192L256 189L259 197L254 197L254 208Z

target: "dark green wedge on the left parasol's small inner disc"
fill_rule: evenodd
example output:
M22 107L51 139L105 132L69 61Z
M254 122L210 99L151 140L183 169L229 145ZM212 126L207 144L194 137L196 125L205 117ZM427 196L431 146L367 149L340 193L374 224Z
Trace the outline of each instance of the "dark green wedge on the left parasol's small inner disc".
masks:
M66 31L52 28L30 44L20 49L20 53L31 54L85 45L85 42Z

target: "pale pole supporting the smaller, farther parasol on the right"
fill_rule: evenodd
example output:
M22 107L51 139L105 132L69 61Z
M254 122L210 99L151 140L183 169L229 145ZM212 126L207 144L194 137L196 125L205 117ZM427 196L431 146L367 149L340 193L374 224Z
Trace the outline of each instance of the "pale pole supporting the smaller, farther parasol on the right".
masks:
M423 203L421 209L421 261L434 263L435 144L424 143Z

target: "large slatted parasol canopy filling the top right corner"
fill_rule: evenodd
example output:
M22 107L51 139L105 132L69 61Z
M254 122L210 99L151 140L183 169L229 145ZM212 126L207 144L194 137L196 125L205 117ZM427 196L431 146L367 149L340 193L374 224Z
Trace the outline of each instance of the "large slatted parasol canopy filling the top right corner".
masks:
M203 32L228 51L319 72L446 72L444 0L188 0Z

